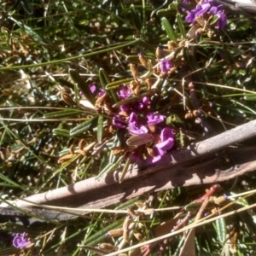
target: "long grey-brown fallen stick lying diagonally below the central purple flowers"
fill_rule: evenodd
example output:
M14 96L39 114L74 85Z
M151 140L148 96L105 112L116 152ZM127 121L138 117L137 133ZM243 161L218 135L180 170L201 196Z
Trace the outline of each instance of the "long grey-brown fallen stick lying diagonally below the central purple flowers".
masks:
M118 183L119 170L103 176L100 180L90 177L84 181L26 197L26 201L59 207L108 207L114 203L143 195L202 183L218 183L256 169L256 148L228 148L226 153L214 156L217 150L256 137L256 120L225 131L188 148L166 154L157 165L131 165L123 183ZM230 166L222 170L226 158ZM205 159L201 164L199 160ZM13 201L15 207L27 208L22 200ZM1 204L0 207L9 207ZM78 213L75 211L70 211ZM85 213L85 212L84 212Z

